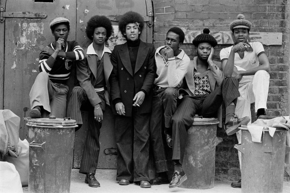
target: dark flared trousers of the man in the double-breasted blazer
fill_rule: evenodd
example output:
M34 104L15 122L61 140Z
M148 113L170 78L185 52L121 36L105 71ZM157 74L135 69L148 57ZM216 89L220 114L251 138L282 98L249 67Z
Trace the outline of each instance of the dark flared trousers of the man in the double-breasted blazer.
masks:
M137 114L136 108L139 107L133 107L131 117L117 115L115 119L118 149L116 180L149 181L150 113Z

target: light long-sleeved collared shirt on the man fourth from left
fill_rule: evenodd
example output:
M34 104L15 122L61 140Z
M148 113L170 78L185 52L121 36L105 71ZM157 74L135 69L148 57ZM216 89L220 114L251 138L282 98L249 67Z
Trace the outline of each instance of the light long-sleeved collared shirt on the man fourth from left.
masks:
M159 53L162 48L164 46L157 48L155 52L157 77L154 80L154 84L162 88L180 87L182 79L187 72L190 59L183 50L180 50L180 53L176 57L168 58L166 62L165 58Z

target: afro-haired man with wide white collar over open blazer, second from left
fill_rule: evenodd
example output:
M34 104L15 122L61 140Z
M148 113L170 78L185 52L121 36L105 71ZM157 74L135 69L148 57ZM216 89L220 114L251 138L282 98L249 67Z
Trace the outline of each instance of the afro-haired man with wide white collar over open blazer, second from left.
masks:
M105 47L105 41L111 36L111 21L105 16L95 15L88 21L86 34L93 42L85 49L85 59L77 63L79 86L73 88L67 116L76 120L78 130L82 126L82 110L89 110L89 130L85 140L80 173L86 174L85 183L90 187L99 187L95 179L100 151L99 135L103 112L106 104L110 105L110 84L108 78L113 66L110 61L111 51Z

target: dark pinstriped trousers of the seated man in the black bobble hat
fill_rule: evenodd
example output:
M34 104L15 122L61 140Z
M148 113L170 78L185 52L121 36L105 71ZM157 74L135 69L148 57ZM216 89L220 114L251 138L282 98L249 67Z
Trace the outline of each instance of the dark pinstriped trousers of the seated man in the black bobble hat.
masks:
M225 106L240 96L237 79L226 78L222 85L210 94L184 96L172 117L172 160L183 161L187 130L192 126L195 114L214 117L224 101Z

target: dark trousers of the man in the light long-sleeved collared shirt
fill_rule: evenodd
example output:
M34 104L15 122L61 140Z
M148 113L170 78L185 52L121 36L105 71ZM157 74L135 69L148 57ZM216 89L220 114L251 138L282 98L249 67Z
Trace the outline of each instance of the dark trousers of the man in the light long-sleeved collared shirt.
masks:
M153 91L150 146L153 150L156 172L168 171L168 161L162 138L164 135L162 123L167 128L171 127L171 118L176 110L177 97L178 90L176 88L161 88Z

